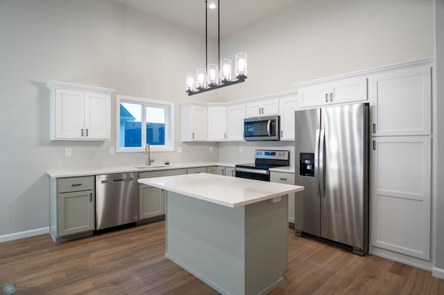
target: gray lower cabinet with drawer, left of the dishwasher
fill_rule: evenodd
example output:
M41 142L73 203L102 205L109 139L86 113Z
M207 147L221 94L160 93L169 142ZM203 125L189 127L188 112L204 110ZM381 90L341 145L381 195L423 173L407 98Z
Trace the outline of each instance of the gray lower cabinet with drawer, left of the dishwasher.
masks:
M95 226L94 176L50 178L50 233L54 242L90 234Z

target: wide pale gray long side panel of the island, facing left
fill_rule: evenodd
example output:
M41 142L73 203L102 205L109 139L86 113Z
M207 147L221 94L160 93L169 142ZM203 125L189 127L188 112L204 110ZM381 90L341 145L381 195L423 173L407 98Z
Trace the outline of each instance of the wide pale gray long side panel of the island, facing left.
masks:
M167 258L222 294L245 294L244 206L167 192Z

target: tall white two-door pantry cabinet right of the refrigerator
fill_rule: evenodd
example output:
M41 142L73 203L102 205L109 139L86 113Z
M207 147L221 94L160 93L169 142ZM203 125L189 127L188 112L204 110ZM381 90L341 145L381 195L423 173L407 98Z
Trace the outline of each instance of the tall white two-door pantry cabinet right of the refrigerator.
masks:
M375 253L429 260L432 63L370 75L368 96L370 245Z

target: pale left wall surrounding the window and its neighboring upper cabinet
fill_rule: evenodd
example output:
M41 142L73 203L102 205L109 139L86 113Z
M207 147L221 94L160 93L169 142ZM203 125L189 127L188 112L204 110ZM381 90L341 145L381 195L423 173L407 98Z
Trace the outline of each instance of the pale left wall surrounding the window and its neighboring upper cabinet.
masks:
M216 143L180 142L185 73L205 64L202 36L109 0L0 0L0 40L0 236L49 226L47 170L144 162L142 153L108 154L115 120L111 141L49 141L49 79L176 102L184 152L153 153L155 163L218 159Z

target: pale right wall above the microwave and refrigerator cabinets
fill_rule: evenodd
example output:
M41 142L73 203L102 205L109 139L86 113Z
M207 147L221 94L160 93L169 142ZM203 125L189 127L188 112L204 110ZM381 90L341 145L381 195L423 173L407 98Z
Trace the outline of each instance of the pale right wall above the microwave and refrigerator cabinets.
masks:
M221 100L433 56L433 26L433 0L300 0L221 40L221 58L248 53L248 79L221 89Z

